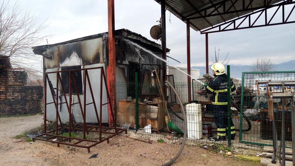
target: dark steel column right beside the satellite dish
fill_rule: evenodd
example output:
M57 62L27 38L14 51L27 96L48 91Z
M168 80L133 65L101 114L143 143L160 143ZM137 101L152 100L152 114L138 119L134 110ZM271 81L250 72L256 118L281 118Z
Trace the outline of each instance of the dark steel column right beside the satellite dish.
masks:
M162 58L166 60L166 14L165 14L165 1L162 0L161 1L161 27L162 27L162 36L161 36L161 40L162 40ZM166 71L166 62L162 62L162 80L163 80L163 84L166 81L166 75L167 75L167 71ZM166 94L166 90L164 90L164 94Z

